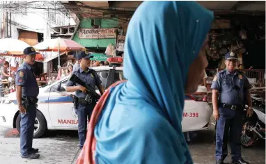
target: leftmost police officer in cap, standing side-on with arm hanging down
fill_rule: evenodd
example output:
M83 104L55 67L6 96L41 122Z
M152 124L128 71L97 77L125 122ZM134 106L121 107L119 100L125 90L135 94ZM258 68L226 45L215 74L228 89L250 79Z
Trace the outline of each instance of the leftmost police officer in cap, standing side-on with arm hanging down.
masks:
M32 142L39 87L32 65L35 63L37 53L33 47L27 47L23 54L24 63L17 69L15 79L17 106L21 116L20 154L22 158L36 159L40 154L36 154L39 150L32 147Z

